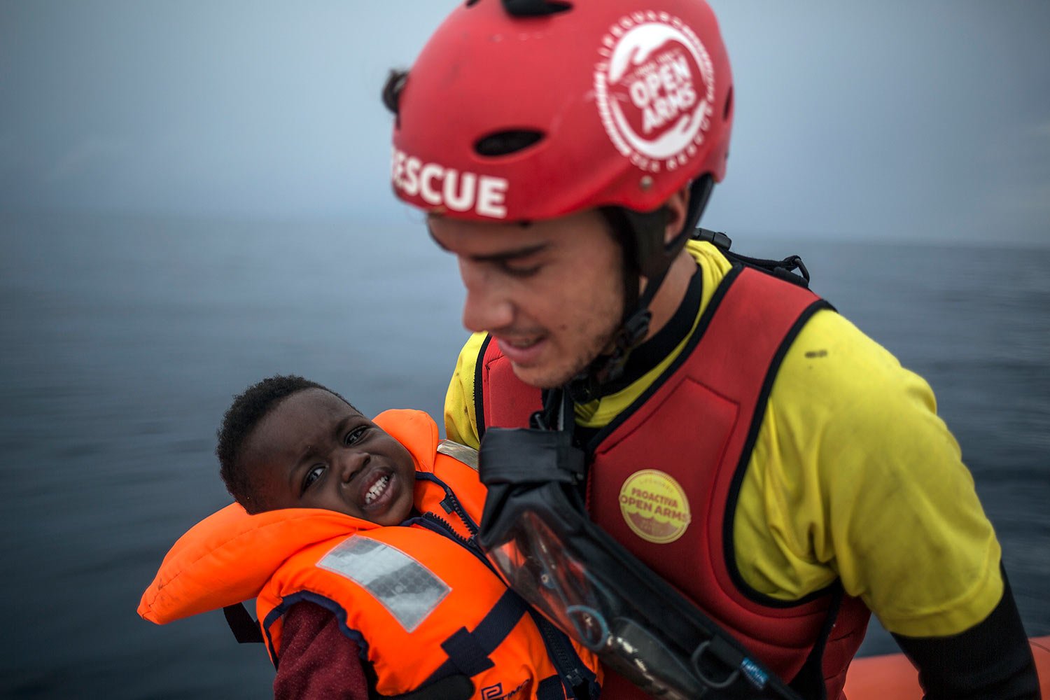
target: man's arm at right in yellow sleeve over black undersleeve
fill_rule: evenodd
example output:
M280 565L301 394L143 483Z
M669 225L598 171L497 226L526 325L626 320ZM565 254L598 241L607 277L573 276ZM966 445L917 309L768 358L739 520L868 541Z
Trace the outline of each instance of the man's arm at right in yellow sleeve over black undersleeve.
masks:
M744 579L798 599L837 575L931 700L1037 698L1001 547L926 382L822 312L785 356L766 423L736 519L737 552L761 552L741 558ZM761 497L743 497L748 479Z

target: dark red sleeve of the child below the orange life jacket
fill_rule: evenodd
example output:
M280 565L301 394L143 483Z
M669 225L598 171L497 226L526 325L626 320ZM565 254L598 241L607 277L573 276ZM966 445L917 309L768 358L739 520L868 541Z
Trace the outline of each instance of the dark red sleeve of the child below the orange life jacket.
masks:
M285 616L275 700L368 700L358 646L339 630L335 615L312 602L297 602Z

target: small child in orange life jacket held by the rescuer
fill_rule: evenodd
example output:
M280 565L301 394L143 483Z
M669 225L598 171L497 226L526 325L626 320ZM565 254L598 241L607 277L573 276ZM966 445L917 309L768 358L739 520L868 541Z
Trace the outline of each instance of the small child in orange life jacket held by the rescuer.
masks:
M216 453L236 503L175 543L144 618L255 598L278 698L597 697L596 658L489 569L475 453L426 413L370 421L271 377L235 398Z

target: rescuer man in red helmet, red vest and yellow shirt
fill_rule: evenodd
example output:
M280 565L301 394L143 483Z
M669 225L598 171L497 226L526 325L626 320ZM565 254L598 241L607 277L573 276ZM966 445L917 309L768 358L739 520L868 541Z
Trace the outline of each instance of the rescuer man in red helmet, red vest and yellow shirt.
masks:
M927 697L1038 696L928 385L791 264L691 238L733 120L702 0L468 0L384 101L395 193L466 288L449 439L570 397L590 516L810 697L869 610Z

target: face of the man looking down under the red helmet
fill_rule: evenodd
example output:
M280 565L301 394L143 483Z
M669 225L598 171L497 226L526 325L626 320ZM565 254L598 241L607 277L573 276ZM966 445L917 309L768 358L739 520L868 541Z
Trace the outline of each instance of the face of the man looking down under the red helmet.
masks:
M428 224L459 260L463 325L490 333L519 379L560 386L608 349L623 313L623 253L597 211L524 225Z

